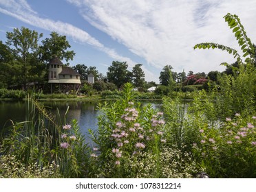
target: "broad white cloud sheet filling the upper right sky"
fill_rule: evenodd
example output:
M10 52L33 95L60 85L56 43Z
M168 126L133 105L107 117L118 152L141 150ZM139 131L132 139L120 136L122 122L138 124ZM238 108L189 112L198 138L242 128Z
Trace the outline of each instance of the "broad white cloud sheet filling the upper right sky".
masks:
M237 48L224 23L228 12L242 19L248 32L256 16L256 1L67 0L78 6L83 18L131 52L162 69L211 71L233 57L220 51L193 50L196 43L215 42ZM249 27L248 27L249 26ZM255 27L255 26L254 26ZM253 38L255 39L255 34Z

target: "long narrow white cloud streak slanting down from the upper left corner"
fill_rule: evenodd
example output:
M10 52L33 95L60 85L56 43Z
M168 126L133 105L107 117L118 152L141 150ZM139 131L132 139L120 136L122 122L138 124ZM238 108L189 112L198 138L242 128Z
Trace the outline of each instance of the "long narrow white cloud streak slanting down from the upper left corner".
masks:
M127 61L129 64L131 64L131 66L135 64L135 62L130 58L120 56L120 54L118 54L114 49L105 47L105 45L100 43L96 38L90 36L83 29L75 27L70 23L41 18L36 14L35 11L30 8L25 0L0 0L0 5L3 7L0 8L0 12L2 12L3 14L13 16L16 19L19 19L20 21L23 21L35 27L47 29L49 31L55 31L66 36L70 36L76 42L92 45L96 49L107 53L107 55L114 60Z

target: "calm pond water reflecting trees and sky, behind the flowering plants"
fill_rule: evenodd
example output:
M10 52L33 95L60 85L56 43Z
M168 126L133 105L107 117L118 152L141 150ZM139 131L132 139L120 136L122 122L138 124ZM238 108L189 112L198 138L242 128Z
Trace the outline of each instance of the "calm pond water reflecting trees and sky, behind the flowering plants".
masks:
M87 136L88 129L97 129L97 116L100 111L97 102L89 101L41 101L45 108L56 115L58 108L61 117L64 117L67 107L67 122L77 119L82 134ZM141 101L142 105L151 104L153 108L160 108L160 101ZM13 122L25 121L28 114L25 101L0 101L0 130Z

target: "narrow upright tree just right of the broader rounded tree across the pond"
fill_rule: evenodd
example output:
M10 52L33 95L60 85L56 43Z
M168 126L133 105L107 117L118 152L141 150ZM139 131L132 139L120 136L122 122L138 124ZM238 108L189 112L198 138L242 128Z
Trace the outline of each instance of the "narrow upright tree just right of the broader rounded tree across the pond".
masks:
M142 64L136 64L132 69L133 83L136 87L143 87L145 84L145 73L141 67Z

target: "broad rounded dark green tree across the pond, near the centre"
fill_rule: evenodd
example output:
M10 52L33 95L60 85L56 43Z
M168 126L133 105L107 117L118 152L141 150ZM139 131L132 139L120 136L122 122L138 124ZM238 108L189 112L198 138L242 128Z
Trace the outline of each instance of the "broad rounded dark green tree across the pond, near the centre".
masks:
M107 71L107 80L114 83L118 88L129 82L129 72L126 62L113 61Z

